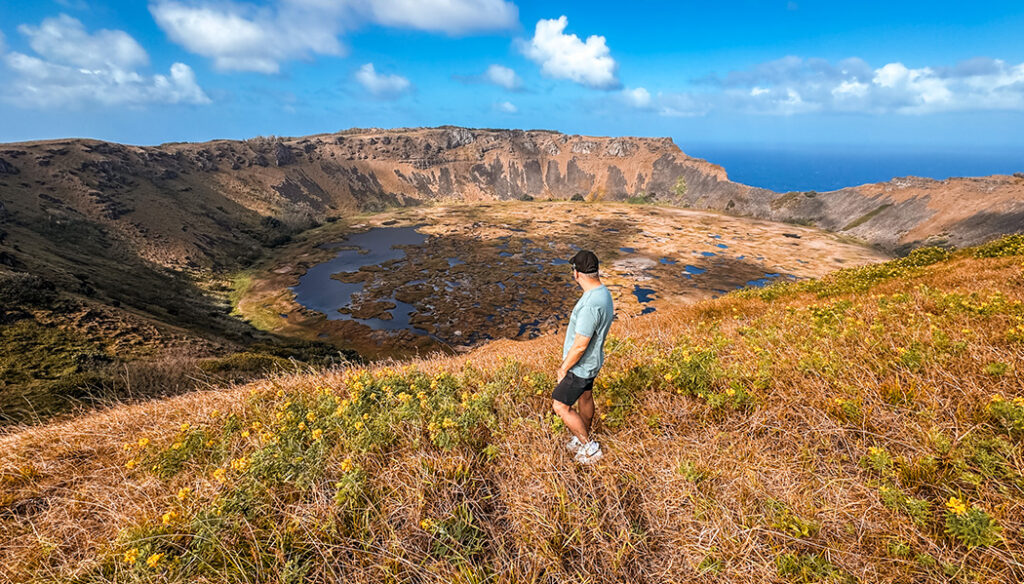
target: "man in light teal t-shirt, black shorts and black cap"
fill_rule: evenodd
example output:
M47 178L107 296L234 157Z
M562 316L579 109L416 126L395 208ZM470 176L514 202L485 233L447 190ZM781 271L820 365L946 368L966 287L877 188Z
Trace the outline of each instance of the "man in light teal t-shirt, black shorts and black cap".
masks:
M583 288L569 317L562 344L562 365L558 368L558 385L551 393L552 408L572 432L565 447L583 464L597 462L604 455L601 445L590 437L594 420L594 377L604 363L604 337L611 327L614 307L611 293L601 284L597 273L597 256L581 251L569 260L572 280ZM572 405L580 402L579 412Z

